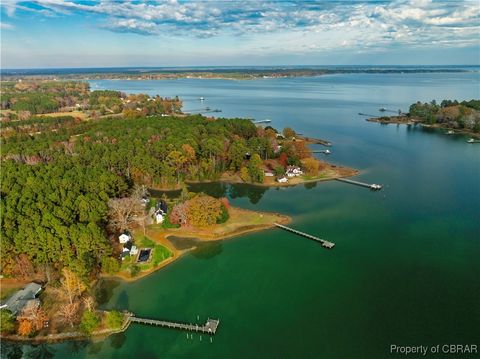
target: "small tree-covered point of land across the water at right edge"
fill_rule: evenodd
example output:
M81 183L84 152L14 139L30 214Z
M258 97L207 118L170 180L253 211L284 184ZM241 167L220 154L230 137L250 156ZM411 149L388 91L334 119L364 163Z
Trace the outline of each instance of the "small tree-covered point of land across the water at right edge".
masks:
M385 112L385 109L380 111ZM480 138L480 100L443 100L440 104L435 100L430 103L417 102L410 106L408 113L399 111L398 115L371 117L367 121L387 125L419 124L427 128L446 129L448 135L463 133Z

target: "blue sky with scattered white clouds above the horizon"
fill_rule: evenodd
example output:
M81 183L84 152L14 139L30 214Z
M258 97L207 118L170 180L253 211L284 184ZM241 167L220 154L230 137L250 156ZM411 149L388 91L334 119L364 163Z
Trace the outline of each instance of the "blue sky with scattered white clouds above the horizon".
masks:
M1 0L1 68L480 65L480 1Z

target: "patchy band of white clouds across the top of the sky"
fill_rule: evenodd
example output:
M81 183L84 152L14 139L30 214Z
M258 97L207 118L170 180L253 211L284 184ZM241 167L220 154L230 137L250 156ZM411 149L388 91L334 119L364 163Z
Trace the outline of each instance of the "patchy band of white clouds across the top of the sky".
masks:
M358 49L386 46L464 46L478 42L477 1L397 0L393 2L201 1L133 2L102 0L3 1L9 16L29 9L68 16L101 16L102 28L155 36L207 38L239 36L269 39L302 51L336 46ZM254 36L255 35L255 36ZM278 47L278 46L277 46Z

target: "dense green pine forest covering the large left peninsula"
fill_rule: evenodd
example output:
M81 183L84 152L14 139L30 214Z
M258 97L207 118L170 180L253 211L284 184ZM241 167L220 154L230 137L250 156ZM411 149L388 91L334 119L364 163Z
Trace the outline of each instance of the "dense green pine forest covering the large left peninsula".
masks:
M244 119L66 117L39 123L39 133L17 131L1 142L7 276L26 267L46 275L67 267L84 279L95 276L102 258L113 254L106 230L109 200L129 196L136 184L167 188L218 180L225 171L258 182L261 159L280 156L286 165L308 155L303 142L275 153L277 133Z

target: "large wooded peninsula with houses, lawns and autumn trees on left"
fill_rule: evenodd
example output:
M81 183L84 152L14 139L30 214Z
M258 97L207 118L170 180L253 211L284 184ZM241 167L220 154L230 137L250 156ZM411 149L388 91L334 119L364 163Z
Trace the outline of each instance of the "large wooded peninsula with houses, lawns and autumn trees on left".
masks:
M84 82L2 83L2 339L125 330L127 313L98 308L100 278L136 280L215 241L290 222L192 184L281 187L357 174L315 157L311 145L328 141L181 109L179 98ZM159 190L180 192L150 195Z

